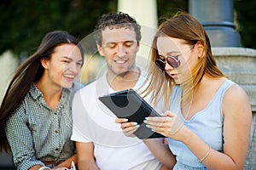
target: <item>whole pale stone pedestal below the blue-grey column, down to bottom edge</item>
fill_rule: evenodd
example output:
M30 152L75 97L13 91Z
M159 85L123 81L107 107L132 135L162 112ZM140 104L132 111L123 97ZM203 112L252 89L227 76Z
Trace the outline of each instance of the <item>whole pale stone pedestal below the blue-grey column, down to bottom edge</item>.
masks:
M230 80L243 88L252 107L252 126L247 161L244 169L256 167L256 50L251 48L218 47L212 48L218 67ZM242 103L241 103L242 105ZM230 105L232 107L232 105ZM242 117L241 117L242 119ZM237 137L239 139L239 137Z

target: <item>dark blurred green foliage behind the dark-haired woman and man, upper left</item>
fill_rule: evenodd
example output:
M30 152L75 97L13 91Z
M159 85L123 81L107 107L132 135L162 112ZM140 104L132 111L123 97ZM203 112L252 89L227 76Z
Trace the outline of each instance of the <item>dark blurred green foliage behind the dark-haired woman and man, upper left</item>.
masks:
M32 54L48 31L83 38L101 14L116 10L114 0L2 0L0 54L11 49L20 58Z

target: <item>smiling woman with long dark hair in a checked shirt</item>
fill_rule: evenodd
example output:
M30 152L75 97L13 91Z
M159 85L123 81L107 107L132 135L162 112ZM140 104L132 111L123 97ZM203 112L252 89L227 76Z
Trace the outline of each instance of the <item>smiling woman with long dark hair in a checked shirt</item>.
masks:
M52 31L15 72L0 108L0 150L12 151L17 169L65 169L77 161L71 101L83 59L75 37Z

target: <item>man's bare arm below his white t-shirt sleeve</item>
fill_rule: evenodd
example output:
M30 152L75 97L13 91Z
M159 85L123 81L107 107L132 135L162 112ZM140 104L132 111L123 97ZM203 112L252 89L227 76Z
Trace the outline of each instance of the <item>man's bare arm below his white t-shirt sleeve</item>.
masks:
M76 142L76 147L78 153L79 170L98 170L99 168L96 166L96 160L94 157L94 144L92 142Z

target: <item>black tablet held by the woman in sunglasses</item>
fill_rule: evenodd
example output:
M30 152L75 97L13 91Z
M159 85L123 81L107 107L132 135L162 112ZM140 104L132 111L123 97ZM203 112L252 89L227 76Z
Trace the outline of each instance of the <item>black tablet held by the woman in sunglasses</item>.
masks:
M160 133L153 132L143 122L145 117L160 116L136 91L132 88L114 94L99 97L104 105L119 118L127 118L129 122L137 122L140 127L134 133L139 139L165 138Z

